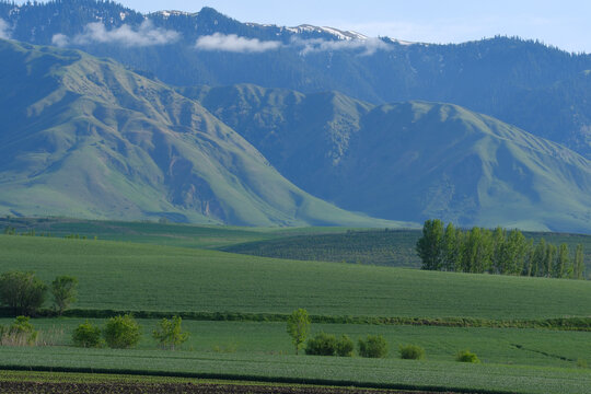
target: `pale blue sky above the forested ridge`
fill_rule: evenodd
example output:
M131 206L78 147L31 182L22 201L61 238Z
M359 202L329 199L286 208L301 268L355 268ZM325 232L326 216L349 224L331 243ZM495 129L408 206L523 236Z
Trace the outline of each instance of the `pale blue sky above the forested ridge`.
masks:
M196 12L208 5L242 22L310 23L369 36L460 43L496 34L538 38L570 51L591 53L588 0L119 0L141 12Z

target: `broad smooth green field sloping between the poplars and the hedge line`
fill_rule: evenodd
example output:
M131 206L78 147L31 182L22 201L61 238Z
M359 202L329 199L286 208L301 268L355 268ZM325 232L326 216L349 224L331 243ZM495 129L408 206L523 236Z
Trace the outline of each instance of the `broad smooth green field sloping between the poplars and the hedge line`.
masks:
M0 235L0 271L80 280L76 308L318 315L589 316L589 281L293 262L106 241Z

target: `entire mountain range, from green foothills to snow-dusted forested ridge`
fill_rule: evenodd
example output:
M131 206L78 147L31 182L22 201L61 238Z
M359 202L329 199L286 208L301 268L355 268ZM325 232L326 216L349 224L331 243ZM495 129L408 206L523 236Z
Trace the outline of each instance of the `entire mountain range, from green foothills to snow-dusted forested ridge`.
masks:
M591 230L588 55L93 0L0 19L0 213Z

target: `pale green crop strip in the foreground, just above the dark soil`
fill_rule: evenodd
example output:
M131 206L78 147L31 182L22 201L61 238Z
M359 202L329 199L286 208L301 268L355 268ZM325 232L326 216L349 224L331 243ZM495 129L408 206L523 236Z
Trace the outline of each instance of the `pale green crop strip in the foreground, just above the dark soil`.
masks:
M7 348L0 354L0 367L11 366L76 372L92 369L210 379L511 393L583 393L591 385L591 372L582 369L196 351Z

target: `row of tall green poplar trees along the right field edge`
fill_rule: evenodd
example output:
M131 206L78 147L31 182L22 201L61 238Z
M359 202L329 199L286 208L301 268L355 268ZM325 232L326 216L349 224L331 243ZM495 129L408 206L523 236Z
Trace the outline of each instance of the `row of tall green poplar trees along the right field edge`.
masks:
M427 220L416 250L422 269L583 279L582 245L577 245L572 258L567 244L544 240L534 244L519 230L463 230Z

